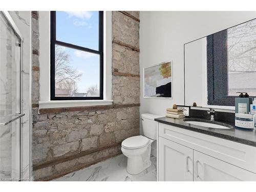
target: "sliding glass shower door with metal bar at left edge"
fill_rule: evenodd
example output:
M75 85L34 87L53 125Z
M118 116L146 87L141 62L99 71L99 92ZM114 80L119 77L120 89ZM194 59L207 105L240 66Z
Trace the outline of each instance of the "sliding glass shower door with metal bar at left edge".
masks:
M20 38L0 12L0 181L20 179Z

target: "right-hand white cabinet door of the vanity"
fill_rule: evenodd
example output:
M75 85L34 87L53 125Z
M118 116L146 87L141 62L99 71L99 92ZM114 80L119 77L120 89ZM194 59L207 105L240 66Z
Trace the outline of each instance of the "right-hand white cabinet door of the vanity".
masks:
M256 181L256 174L194 151L194 181Z

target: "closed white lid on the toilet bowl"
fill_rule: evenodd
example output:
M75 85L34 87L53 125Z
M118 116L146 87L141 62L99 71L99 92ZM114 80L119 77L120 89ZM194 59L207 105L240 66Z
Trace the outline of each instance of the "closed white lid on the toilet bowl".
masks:
M122 142L122 146L124 148L129 148L129 149L142 148L147 145L148 141L149 139L142 135L133 136L133 137L124 139Z

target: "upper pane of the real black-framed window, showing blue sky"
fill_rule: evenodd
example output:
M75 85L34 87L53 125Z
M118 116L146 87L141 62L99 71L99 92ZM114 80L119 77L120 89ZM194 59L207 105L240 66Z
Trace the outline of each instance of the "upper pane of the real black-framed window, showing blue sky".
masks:
M56 11L56 40L99 50L99 12Z

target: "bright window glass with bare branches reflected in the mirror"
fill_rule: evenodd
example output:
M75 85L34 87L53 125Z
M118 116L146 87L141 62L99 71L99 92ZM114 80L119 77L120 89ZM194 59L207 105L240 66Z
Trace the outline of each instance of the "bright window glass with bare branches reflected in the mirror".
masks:
M228 29L228 95L256 96L256 19Z

